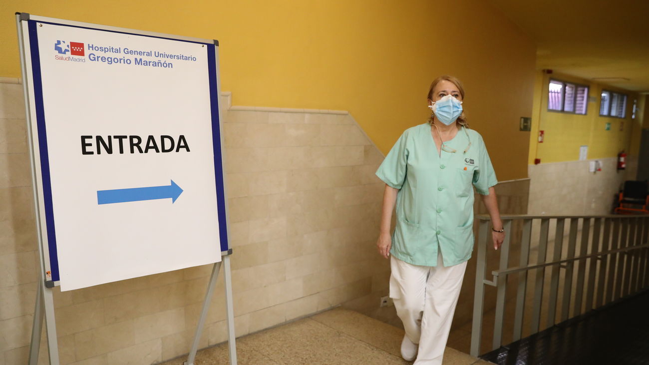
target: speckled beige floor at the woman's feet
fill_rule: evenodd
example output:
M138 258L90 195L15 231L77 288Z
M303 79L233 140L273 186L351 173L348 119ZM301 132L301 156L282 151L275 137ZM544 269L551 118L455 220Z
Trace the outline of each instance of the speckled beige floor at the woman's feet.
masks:
M237 339L239 364L411 364L401 359L402 329L334 308ZM181 365L186 355L164 362ZM199 351L196 365L229 364L227 343ZM446 365L491 364L447 347Z

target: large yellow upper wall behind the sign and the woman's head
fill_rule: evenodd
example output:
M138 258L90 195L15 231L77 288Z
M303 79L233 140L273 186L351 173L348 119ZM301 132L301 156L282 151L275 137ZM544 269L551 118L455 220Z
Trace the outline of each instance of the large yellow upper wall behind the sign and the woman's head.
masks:
M16 11L216 38L234 105L349 110L383 153L426 120L432 79L455 75L498 179L527 176L535 45L484 1L3 0L0 77L20 75Z

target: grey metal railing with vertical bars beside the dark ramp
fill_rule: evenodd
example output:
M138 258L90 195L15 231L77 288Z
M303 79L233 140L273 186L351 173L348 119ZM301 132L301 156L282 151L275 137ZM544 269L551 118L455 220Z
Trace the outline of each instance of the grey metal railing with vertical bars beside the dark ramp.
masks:
M513 323L513 341L522 336L523 317L531 310L531 334L544 328L541 315L546 310L546 327L568 320L571 315L606 305L611 301L649 288L649 216L648 215L593 215L593 216L531 216L512 214L501 216L505 237L498 258L498 270L491 271L493 281L485 278L487 269L487 241L489 221L486 214L477 215L476 282L474 291L471 355L480 353L482 317L486 285L496 287L495 323L492 349L502 346L503 322L508 302L508 275L518 277ZM520 236L513 237L514 221L522 221ZM537 240L532 240L532 224L540 221ZM554 240L550 239L550 221L556 221ZM567 223L569 221L569 223ZM580 222L581 236L580 235ZM591 234L592 223L592 234ZM565 229L567 239L565 239ZM532 242L537 244L536 262L530 262ZM565 245L564 245L565 244ZM519 264L509 267L510 247L520 247ZM552 257L548 251L552 249ZM526 308L528 272L532 304ZM559 273L563 270L563 275ZM544 288L546 273L550 273L549 289ZM498 280L500 279L500 280ZM573 279L575 290L573 293ZM561 296L559 296L559 289ZM546 293L544 293L546 292ZM547 299L544 299L547 294ZM574 299L572 299L574 297ZM528 314L529 316L529 314Z

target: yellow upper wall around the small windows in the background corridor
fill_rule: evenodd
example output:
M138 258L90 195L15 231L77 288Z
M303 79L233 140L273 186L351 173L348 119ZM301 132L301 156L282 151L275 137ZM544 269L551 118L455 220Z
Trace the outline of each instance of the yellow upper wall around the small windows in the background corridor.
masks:
M594 97L596 101L589 101L586 115L548 111L550 79L587 85L589 97ZM530 164L534 163L534 158L541 158L541 163L578 160L581 145L588 146L587 158L589 159L615 157L622 150L626 153L631 152L631 134L634 123L637 123L637 120L631 119L631 110L633 100L640 101L639 95L628 90L596 84L568 75L546 74L543 71L537 71L535 82L535 114L532 121L533 134L530 136ZM602 89L627 95L625 119L599 115ZM611 123L609 131L605 129L606 123ZM620 131L622 123L624 127ZM537 142L538 131L545 131L543 143Z

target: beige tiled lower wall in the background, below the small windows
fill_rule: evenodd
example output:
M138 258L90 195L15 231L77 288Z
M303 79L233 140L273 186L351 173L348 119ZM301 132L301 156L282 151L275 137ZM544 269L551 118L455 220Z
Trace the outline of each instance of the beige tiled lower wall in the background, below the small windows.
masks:
M591 160L530 165L530 214L611 214L620 186L635 179L637 161L617 171L617 158L601 158L602 171L588 171Z

